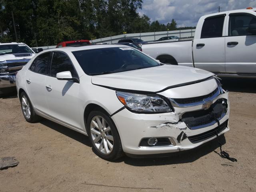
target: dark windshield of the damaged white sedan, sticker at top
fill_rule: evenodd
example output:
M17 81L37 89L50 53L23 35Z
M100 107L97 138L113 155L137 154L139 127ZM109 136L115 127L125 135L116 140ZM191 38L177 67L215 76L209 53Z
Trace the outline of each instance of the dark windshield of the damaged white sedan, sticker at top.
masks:
M88 75L109 74L160 66L158 62L130 47L112 47L72 52Z

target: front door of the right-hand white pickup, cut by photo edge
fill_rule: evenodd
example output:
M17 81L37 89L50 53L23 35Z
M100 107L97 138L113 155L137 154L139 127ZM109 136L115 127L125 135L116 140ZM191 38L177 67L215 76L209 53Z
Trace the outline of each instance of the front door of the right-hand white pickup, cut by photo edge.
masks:
M229 12L225 37L227 73L256 74L256 35L248 32L252 24L256 24L254 12Z

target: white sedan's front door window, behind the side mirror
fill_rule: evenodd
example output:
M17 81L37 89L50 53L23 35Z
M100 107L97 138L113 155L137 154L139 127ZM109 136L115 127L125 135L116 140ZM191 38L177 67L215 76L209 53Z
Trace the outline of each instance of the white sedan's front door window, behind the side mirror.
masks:
M72 77L78 78L76 70L68 55L63 52L54 52L50 68L50 76L56 77L57 73L63 71L70 71Z

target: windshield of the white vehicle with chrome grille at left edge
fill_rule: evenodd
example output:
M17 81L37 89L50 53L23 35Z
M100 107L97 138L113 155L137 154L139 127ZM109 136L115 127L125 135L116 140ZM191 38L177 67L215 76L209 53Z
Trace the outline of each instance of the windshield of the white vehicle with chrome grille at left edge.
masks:
M0 45L0 55L16 53L32 53L32 51L25 44Z

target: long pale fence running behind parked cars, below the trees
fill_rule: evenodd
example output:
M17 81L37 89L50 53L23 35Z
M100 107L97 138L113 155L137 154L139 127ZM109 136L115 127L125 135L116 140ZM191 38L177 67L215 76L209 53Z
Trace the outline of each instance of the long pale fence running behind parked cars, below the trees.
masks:
M152 42L160 39L165 36L177 36L179 38L193 37L196 29L186 29L186 30L175 30L175 31L160 31L160 32L148 32L148 33L130 33L130 34L122 34L111 37L99 38L90 40L91 43L108 43L114 44L117 43L118 40L130 37L130 38L141 38L144 41Z

